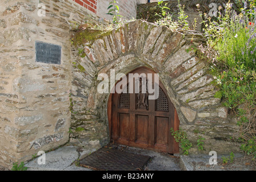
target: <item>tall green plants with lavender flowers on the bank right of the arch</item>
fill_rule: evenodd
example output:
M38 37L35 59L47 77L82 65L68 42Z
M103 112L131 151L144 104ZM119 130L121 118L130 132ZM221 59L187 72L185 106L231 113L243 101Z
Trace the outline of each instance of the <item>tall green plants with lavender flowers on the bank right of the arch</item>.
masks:
M208 57L210 73L219 87L215 97L221 98L223 105L238 118L236 138L242 142L240 148L255 159L256 4L255 0L239 2L243 4L239 14L227 3L225 14L219 7L217 17L204 19L206 15L202 14L201 17L207 48L217 52Z

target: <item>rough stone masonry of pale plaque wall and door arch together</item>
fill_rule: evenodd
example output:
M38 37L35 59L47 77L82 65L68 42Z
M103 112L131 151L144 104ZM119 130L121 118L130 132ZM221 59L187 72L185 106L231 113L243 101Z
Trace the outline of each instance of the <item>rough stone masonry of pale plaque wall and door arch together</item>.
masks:
M38 2L46 16L38 16ZM38 151L69 142L98 149L109 142L107 101L97 92L97 75L129 73L141 66L159 73L191 142L206 138L206 152L236 150L227 139L235 130L193 51L199 32L171 31L135 20L80 45L71 46L72 22L93 20L83 7L63 1L0 2L0 165L11 168ZM35 61L35 42L61 46L61 64ZM191 152L197 153L197 147Z

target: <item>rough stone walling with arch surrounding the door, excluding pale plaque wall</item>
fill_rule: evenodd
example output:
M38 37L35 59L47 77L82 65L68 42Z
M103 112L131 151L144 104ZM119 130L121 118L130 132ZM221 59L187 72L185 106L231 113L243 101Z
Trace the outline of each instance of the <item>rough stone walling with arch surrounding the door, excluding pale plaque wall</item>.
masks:
M90 34L91 30L86 31ZM218 88L212 84L207 62L200 60L191 49L204 41L196 31L171 31L135 20L118 30L102 35L99 32L95 39L74 48L84 52L82 56L78 56L78 51L73 54L73 60L77 61L73 67L70 142L90 148L109 140L107 102L110 94L97 92L101 82L97 80L99 73L110 76L110 69L115 69L115 74L127 74L144 66L159 73L178 112L180 127L193 143L191 154L198 152L199 136L206 139L204 147L208 154L210 150L218 154L236 152L238 148L229 141L237 129L235 121L228 117L221 100L214 97Z

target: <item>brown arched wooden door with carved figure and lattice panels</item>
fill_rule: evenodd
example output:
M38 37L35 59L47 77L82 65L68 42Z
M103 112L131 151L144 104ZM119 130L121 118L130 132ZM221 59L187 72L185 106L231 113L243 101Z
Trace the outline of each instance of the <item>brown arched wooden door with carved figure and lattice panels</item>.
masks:
M145 67L130 73L154 74ZM129 86L127 84L123 89L128 91ZM170 154L178 153L178 143L171 136L170 128L178 130L179 119L160 81L157 100L149 100L149 94L115 92L110 96L108 109L110 138L114 143Z

